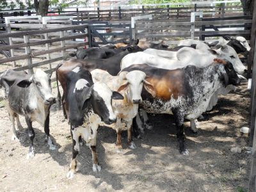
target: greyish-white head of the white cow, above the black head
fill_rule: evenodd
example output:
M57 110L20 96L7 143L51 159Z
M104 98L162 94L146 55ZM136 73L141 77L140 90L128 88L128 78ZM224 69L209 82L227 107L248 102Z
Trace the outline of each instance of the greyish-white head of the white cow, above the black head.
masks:
M222 45L220 47L216 46L216 48L217 49L215 50L209 49L209 51L220 59L230 61L238 74L244 74L244 72L246 72L246 67L244 67L243 63L237 56L236 51L232 47L229 45Z

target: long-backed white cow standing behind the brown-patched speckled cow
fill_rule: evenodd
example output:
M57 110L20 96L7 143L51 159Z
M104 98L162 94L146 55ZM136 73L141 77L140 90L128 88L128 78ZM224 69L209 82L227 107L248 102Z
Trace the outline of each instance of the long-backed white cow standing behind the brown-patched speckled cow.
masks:
M121 70L132 64L143 63L147 63L153 67L166 69L182 68L188 65L195 65L196 67L203 68L210 65L214 58L230 61L236 72L239 74L244 74L244 70L246 70L241 60L239 60L236 51L227 45L222 46L218 50L209 49L205 52L191 47L183 47L177 51L177 60L168 60L167 58L147 54L145 52L135 52L127 54L122 59Z

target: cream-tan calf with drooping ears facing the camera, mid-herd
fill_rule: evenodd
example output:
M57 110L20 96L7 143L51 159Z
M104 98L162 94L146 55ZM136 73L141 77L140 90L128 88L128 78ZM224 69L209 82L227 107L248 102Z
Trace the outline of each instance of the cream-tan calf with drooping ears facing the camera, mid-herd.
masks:
M129 148L136 148L132 141L131 126L132 119L138 113L138 104L141 102L142 87L147 90L151 86L145 81L146 74L140 70L132 72L120 72L118 76L111 76L105 70L95 69L91 72L93 82L104 82L111 90L120 92L124 96L124 100L113 100L113 111L116 115L116 125L114 126L117 133L116 147L117 151L122 150L121 132L127 129ZM125 122L126 126L122 126Z

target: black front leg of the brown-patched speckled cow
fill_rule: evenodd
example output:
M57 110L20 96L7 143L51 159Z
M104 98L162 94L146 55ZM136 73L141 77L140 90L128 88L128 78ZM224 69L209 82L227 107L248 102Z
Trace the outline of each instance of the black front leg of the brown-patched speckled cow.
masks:
M183 111L179 111L179 109L172 109L172 111L175 117L175 125L177 128L177 139L179 142L180 154L188 155L188 150L186 150L184 145L184 113Z

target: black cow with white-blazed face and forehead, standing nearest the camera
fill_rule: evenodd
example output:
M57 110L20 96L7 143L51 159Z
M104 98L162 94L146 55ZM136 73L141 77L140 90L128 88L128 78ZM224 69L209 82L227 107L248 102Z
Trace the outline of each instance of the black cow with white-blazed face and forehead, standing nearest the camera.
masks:
M92 150L93 172L99 172L101 167L96 154L97 129L102 121L105 124L116 122L112 99L124 99L118 92L112 92L105 83L94 83L88 70L75 68L67 74L68 120L72 136L72 161L68 178L76 173L76 157L79 152L79 137L81 136Z

